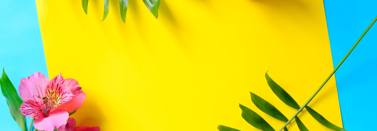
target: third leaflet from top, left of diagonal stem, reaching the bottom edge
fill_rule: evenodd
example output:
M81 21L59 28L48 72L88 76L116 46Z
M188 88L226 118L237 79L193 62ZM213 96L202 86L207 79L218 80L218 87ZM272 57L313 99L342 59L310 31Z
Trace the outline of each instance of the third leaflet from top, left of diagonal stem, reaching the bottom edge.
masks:
M261 116L259 116L253 110L248 109L242 104L239 104L239 107L242 110L241 116L245 119L247 123L263 131L275 131L270 124L268 124Z

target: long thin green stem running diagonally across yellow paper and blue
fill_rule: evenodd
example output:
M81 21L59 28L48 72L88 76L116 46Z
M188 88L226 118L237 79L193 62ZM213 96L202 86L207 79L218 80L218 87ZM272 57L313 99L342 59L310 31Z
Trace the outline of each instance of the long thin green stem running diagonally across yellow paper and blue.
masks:
M342 65L342 63L344 62L344 60L346 60L346 58L348 57L349 54L351 54L352 50L356 47L356 45L360 42L360 40L364 37L364 35L366 34L366 32L368 32L369 28L372 27L372 25L374 24L374 22L376 22L377 20L377 16L374 18L374 20L372 21L372 23L368 26L368 28L366 28L366 30L364 31L364 33L359 37L359 39L356 41L356 43L354 44L354 46L352 46L352 48L348 51L348 53L346 54L346 56L342 59L342 61L340 61L340 63L334 68L333 72L331 72L331 74L326 78L325 82L322 83L321 86L319 86L319 88L317 89L316 92L314 92L314 94L309 98L309 100L299 109L299 111L296 112L296 114L294 114L292 116L291 119L288 120L287 123L285 123L285 125L279 130L279 131L282 131L285 127L287 127L287 125L302 111L302 109L304 109L308 103L314 98L314 96L317 95L317 93L319 92L319 90L322 89L322 87L326 84L326 82L331 78L331 76L333 76L333 74L335 73L336 70L338 70L338 68L340 67L340 65Z

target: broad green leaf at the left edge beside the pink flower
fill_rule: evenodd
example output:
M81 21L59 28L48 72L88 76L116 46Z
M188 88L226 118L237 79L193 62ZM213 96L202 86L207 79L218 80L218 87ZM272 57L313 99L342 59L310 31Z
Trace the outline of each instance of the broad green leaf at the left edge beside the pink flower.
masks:
M8 76L6 76L4 68L3 75L0 78L0 86L12 118L17 122L18 126L21 128L21 131L26 131L26 119L25 116L21 114L20 110L23 101L20 97L18 97L18 93L11 80L9 80Z

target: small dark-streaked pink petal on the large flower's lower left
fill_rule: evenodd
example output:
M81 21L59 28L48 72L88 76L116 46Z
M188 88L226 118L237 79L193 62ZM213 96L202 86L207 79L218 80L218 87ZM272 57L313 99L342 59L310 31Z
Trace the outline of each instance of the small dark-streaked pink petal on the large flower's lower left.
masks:
M37 103L34 100L27 100L23 102L20 107L22 115L35 119L44 118L45 112L41 103L43 103L43 101Z

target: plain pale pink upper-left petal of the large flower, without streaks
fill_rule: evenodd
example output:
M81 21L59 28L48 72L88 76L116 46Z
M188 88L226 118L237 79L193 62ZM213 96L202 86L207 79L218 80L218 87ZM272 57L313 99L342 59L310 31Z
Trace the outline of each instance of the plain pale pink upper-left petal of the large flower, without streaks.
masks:
M21 83L18 86L20 97L22 101L37 100L45 96L44 91L50 80L42 73L35 72L28 78L22 78ZM35 95L35 96L34 96ZM36 97L39 96L40 98Z

